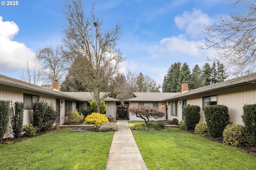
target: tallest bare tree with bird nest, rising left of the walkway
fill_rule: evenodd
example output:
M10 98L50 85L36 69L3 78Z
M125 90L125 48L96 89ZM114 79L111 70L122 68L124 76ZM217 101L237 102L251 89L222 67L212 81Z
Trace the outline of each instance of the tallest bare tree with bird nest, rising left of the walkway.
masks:
M96 101L96 110L100 111L100 90L110 83L120 68L125 56L116 48L120 39L120 25L113 29L102 27L102 20L94 13L94 4L91 16L86 18L82 0L70 0L64 5L64 17L67 23L62 30L62 42L68 49L65 53L70 61L78 57L86 61L82 68L87 72L80 82L86 81L86 89L92 93Z

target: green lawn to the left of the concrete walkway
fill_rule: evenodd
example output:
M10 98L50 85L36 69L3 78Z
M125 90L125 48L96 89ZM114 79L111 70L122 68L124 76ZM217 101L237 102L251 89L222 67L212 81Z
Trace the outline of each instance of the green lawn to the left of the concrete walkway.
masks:
M54 131L0 147L1 170L104 170L114 132Z

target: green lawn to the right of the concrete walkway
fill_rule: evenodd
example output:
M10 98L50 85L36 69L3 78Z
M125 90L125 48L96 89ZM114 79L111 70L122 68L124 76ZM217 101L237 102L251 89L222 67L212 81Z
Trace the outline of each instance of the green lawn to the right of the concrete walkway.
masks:
M148 170L252 170L256 157L244 150L176 127L132 131Z

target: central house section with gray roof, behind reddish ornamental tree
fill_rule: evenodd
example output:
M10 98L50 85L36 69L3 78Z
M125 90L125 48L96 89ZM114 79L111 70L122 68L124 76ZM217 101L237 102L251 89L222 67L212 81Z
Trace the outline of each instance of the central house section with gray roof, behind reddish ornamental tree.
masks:
M166 112L166 102L162 101L166 98L170 98L172 96L176 96L180 93L158 93L158 92L134 92L134 98L125 100L128 103L128 119L132 121L141 121L140 117L136 117L136 115L132 115L129 111L129 107L133 106L150 106L156 109L160 109L163 112ZM157 120L166 120L168 119L167 114ZM156 120L154 118L150 118L150 120Z

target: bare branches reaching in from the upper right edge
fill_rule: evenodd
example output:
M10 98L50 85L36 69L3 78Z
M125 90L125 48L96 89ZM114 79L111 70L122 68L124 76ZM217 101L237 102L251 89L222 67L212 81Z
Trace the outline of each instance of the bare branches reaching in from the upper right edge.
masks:
M204 26L203 33L208 37L202 41L205 47L200 46L201 49L214 48L217 57L208 59L224 62L234 70L234 76L256 70L256 0L232 0L231 7L240 3L244 6L241 11Z

